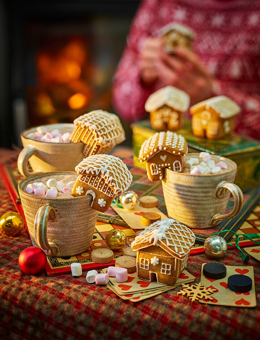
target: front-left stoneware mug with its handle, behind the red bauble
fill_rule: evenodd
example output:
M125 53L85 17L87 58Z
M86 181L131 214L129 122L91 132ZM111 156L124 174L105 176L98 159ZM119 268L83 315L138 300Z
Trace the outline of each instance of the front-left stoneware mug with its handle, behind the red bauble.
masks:
M87 250L93 238L98 211L90 207L91 195L47 198L28 194L24 190L29 183L37 182L42 177L69 174L72 173L33 175L18 185L32 243L50 256L74 256Z

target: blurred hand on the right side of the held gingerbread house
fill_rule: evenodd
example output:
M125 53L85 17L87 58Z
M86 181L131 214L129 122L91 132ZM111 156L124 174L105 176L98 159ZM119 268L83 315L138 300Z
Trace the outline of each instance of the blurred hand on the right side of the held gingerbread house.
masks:
M192 51L180 47L174 49L173 55L162 51L155 64L161 82L185 91L191 104L210 97L213 78Z

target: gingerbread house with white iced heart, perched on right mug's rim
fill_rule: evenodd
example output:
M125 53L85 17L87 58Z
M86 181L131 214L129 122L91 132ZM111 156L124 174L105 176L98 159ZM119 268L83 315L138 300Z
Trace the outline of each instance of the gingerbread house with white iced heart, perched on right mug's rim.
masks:
M161 131L143 142L138 158L141 162L146 160L147 175L154 182L163 179L164 168L183 172L183 156L187 152L187 141L183 136Z

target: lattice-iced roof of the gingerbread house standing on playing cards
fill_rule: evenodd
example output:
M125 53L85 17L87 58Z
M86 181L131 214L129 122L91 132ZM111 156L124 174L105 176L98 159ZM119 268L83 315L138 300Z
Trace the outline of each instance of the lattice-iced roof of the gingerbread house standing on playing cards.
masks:
M131 243L133 250L160 246L171 256L183 258L195 242L194 233L180 222L164 218L144 228Z

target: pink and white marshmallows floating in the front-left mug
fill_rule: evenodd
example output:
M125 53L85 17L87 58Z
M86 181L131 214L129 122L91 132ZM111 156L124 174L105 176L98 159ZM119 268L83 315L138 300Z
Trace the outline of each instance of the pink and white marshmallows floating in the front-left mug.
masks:
M75 183L75 181L70 181L65 185L62 182L57 182L54 178L50 178L46 185L40 182L28 184L25 191L35 196L56 198L59 192L71 193Z

